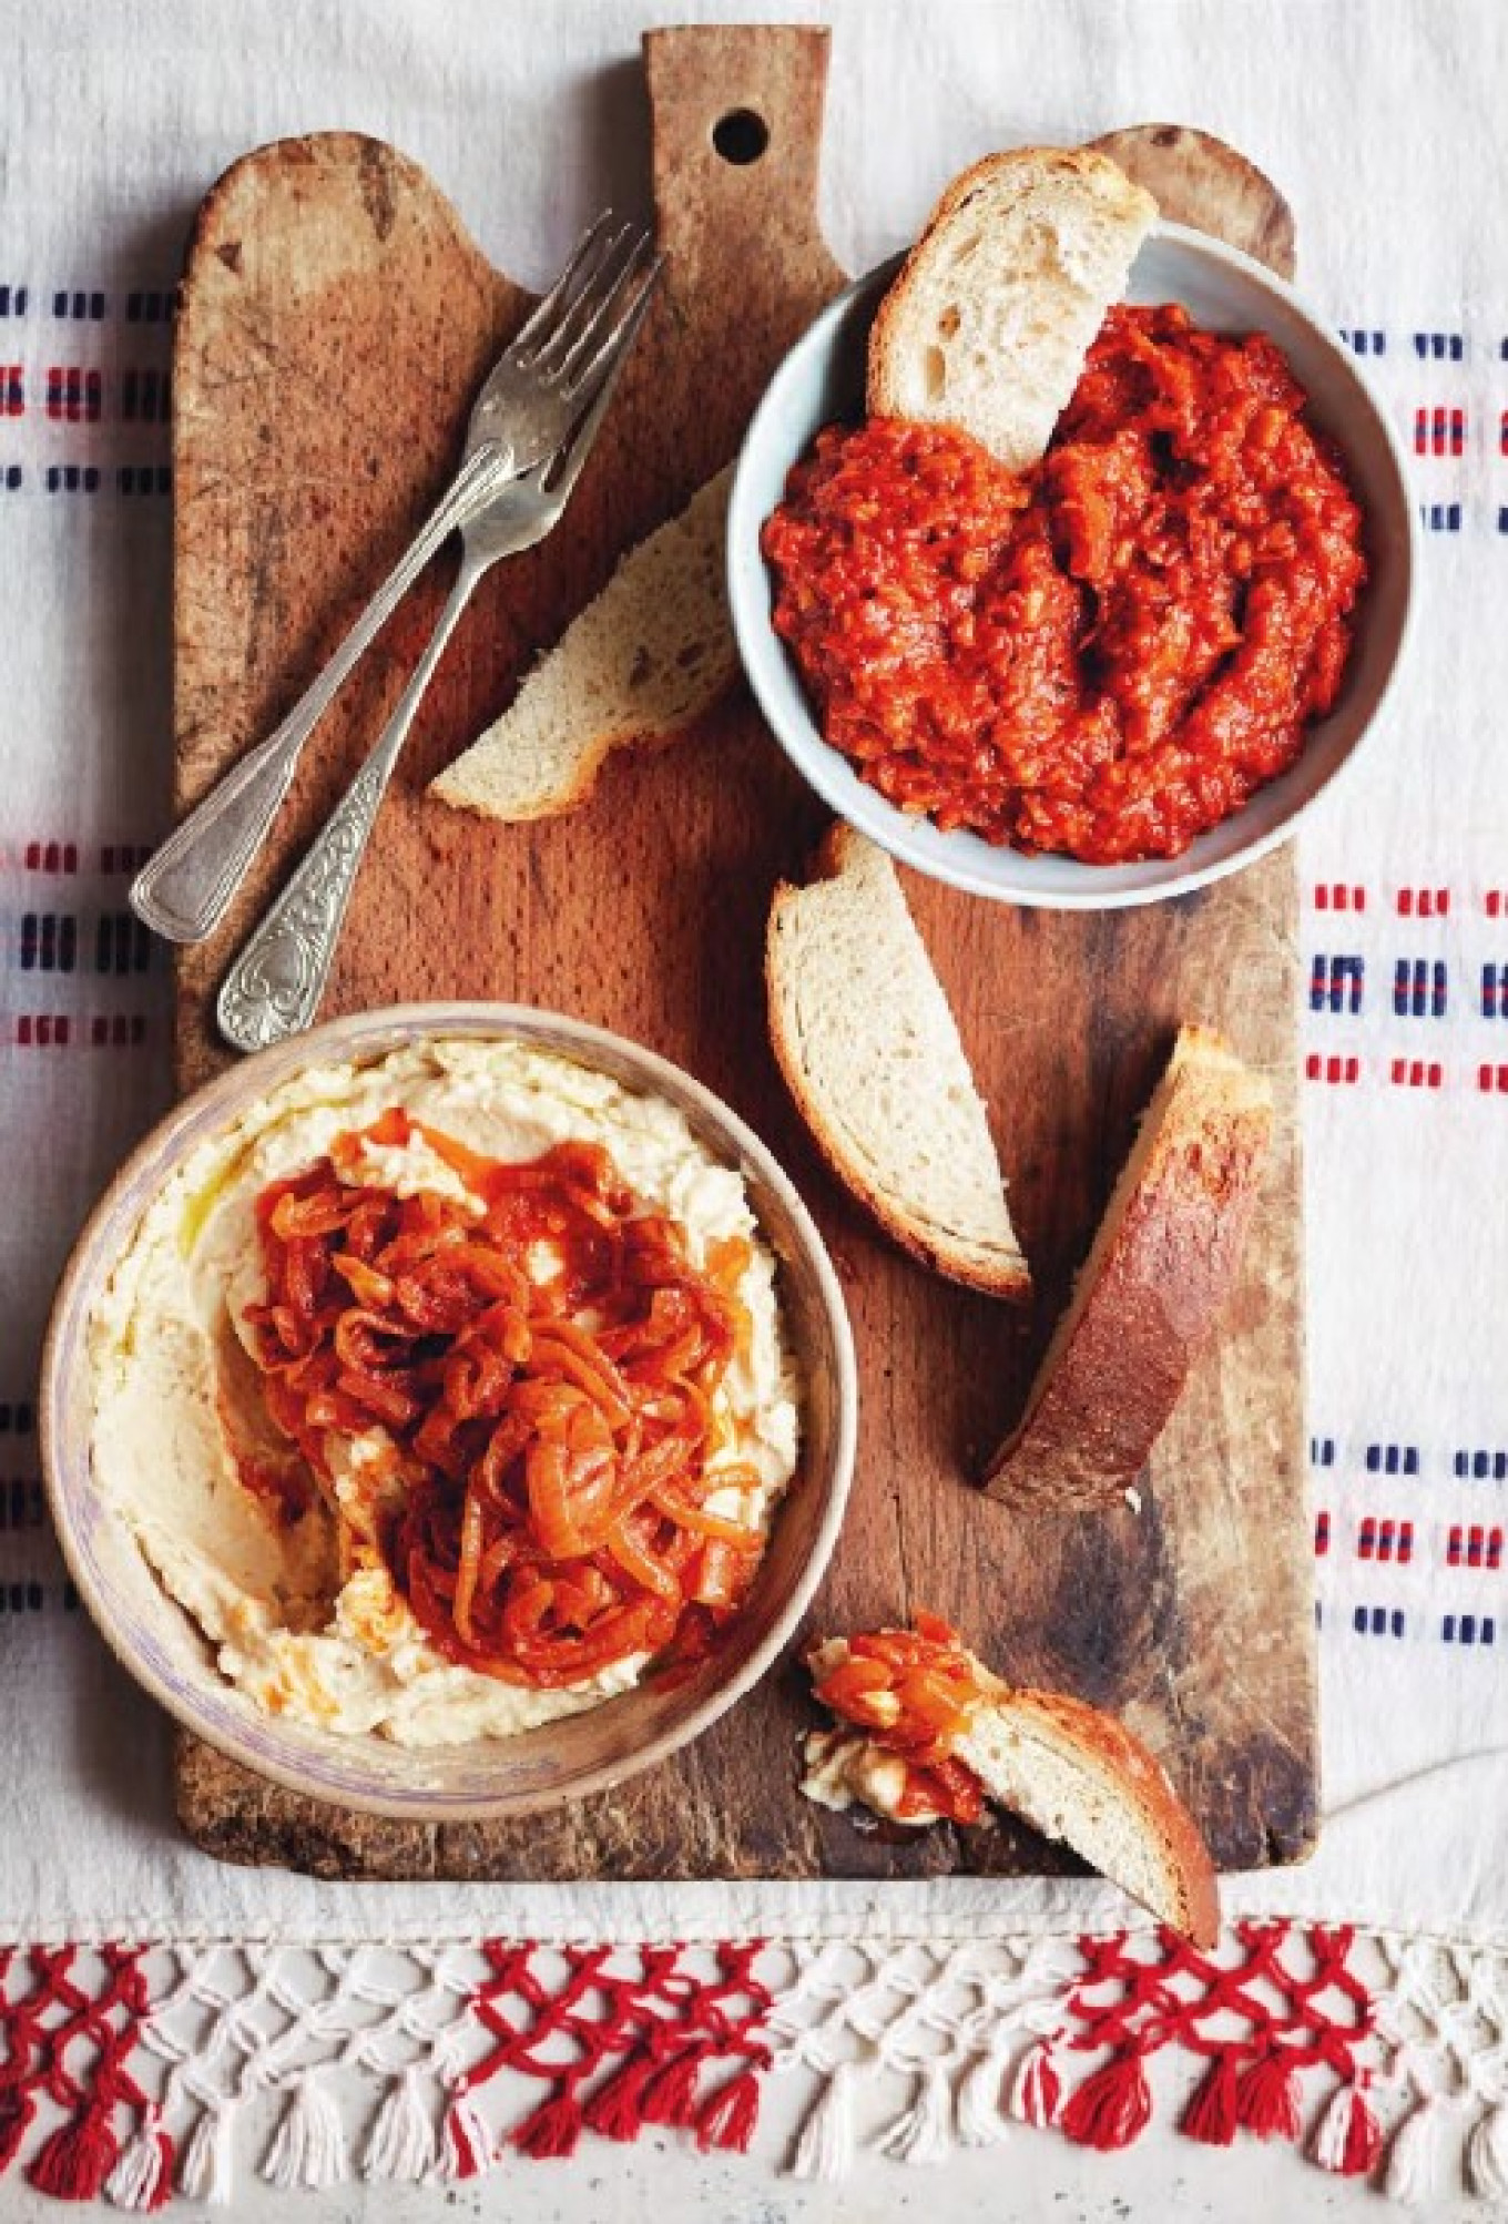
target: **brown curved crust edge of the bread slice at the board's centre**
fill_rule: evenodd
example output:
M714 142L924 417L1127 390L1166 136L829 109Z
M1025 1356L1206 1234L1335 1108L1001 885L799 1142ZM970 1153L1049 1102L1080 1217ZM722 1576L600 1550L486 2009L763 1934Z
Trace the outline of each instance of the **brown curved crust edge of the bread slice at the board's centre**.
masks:
M861 841L863 836L839 818L819 843L807 881L801 885L792 881L776 883L765 932L765 1003L776 1065L825 1163L901 1250L910 1252L912 1259L919 1259L945 1281L959 1281L970 1290L983 1290L988 1297L999 1297L1008 1303L1028 1303L1032 1297L1032 1270L1021 1254L1010 1259L983 1254L976 1245L950 1243L943 1230L907 1212L901 1199L881 1190L870 1179L867 1168L845 1148L843 1134L812 1088L812 1074L801 1056L801 1045L787 1025L787 999L778 954L783 930L792 916L792 907L807 887L816 881L841 878L850 870Z

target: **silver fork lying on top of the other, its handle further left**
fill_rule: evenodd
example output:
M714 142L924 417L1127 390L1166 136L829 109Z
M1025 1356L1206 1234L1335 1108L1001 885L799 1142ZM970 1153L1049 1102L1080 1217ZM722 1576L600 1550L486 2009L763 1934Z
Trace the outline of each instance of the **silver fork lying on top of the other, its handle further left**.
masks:
M634 289L647 274L649 236L616 225L612 209L581 236L549 294L492 367L456 478L351 632L282 725L211 787L131 883L133 912L167 941L202 943L214 934L289 792L305 741L440 543L509 478L554 456L612 383L645 298Z

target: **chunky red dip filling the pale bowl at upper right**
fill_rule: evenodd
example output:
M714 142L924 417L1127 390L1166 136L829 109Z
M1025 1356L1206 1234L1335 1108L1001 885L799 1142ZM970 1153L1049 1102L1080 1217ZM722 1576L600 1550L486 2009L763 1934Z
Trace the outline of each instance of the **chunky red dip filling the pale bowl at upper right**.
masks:
M830 425L765 523L827 741L903 812L1177 856L1303 747L1366 583L1341 458L1263 334L1114 307L1043 463Z

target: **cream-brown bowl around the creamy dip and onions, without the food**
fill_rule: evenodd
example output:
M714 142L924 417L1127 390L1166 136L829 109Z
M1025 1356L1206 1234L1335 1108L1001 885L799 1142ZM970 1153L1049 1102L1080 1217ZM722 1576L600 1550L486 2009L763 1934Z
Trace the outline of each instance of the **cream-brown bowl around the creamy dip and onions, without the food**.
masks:
M743 1615L694 1668L649 1675L583 1715L449 1748L338 1737L260 1712L222 1679L214 1650L169 1599L91 1468L87 1332L149 1201L180 1161L254 1099L316 1061L371 1061L425 1036L525 1039L632 1090L665 1096L723 1163L738 1168L778 1263L778 1297L801 1379L801 1466L776 1515ZM827 1566L854 1468L854 1343L832 1261L765 1145L676 1065L601 1027L518 1005L400 1005L331 1021L265 1050L185 1099L127 1159L65 1270L42 1354L42 1472L80 1597L145 1690L189 1730L289 1790L405 1821L485 1821L607 1790L723 1715L792 1639Z

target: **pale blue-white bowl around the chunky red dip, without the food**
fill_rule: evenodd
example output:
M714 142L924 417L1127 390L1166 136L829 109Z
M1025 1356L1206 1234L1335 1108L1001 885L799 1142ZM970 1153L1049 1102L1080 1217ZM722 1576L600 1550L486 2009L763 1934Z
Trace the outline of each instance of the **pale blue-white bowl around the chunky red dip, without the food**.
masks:
M1372 729L1392 685L1410 623L1417 518L1399 443L1366 378L1292 287L1250 256L1183 225L1159 225L1130 274L1128 300L1177 300L1212 331L1266 331L1306 387L1314 423L1341 447L1366 512L1370 580L1357 605L1357 641L1341 696L1308 734L1290 770L1181 856L1141 865L1081 865L1023 856L976 834L943 834L907 816L859 778L823 741L801 676L770 623L772 578L758 532L785 492L785 474L823 425L856 418L870 325L901 258L841 294L796 340L754 411L727 514L727 592L745 672L796 770L850 825L905 865L974 896L1050 910L1119 910L1177 896L1263 856L1299 825Z

